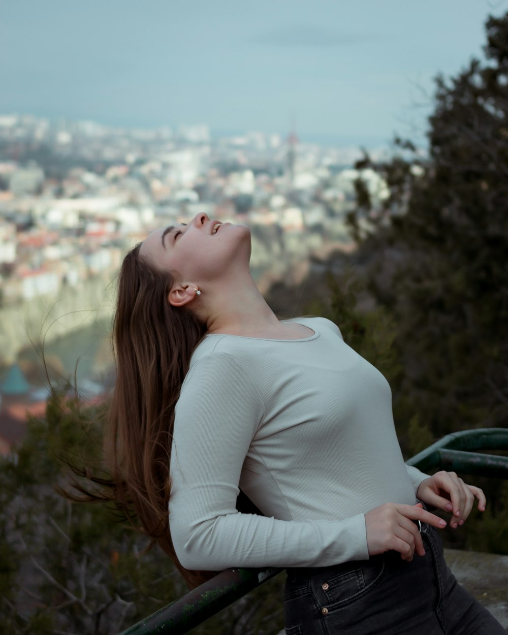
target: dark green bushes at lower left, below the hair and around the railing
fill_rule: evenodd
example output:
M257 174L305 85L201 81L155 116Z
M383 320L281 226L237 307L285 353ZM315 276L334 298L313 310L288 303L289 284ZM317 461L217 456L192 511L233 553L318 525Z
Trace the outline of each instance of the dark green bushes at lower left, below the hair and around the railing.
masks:
M0 623L10 635L116 635L187 592L170 559L110 504L74 504L66 462L100 475L102 408L53 394L46 417L0 461ZM102 476L107 476L102 474ZM274 635L281 577L196 629ZM249 619L246 619L248 616ZM225 626L227 625L227 626Z

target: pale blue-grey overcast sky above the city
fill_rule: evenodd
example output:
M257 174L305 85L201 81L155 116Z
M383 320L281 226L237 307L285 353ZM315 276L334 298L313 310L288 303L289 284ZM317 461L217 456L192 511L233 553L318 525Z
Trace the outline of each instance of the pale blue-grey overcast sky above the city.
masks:
M0 0L0 114L366 145L417 138L434 77L508 0Z

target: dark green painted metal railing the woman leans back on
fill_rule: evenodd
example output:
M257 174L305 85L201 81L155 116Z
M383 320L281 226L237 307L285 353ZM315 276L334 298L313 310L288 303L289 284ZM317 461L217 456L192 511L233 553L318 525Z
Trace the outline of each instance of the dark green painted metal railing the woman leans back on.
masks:
M508 450L508 429L454 432L407 461L422 472L445 469L461 474L508 478L508 457L478 450ZM228 569L120 635L184 635L283 569Z

